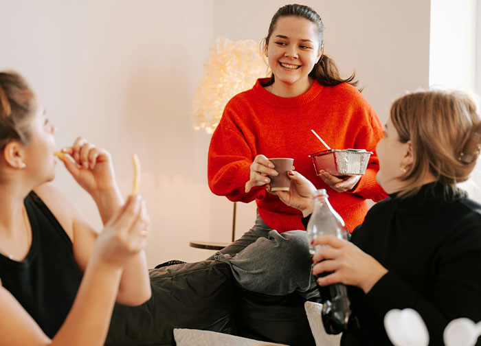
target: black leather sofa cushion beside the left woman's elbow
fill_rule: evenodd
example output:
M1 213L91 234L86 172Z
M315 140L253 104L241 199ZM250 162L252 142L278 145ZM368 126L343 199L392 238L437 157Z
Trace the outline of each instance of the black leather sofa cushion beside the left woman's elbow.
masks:
M116 304L105 345L175 345L174 328L235 334L234 280L216 261L150 270L152 297L137 307Z

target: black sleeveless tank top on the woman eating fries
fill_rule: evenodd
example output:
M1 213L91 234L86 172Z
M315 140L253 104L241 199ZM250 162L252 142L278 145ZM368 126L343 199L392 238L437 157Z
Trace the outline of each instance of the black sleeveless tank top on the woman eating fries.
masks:
M52 338L74 303L82 273L69 236L34 192L25 198L25 208L32 225L32 246L23 262L0 254L0 279Z

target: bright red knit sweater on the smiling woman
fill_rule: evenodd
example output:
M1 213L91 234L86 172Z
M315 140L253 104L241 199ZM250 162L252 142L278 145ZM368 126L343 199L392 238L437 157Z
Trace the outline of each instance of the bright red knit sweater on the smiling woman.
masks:
M210 141L209 187L214 194L232 201L256 200L262 220L279 232L304 229L300 211L287 207L265 186L245 193L250 165L258 154L292 157L295 170L327 189L329 201L349 231L363 222L368 211L366 199L381 200L387 195L376 182L379 169L372 154L368 169L352 192L339 193L315 174L313 152L324 150L311 132L317 132L333 149L357 148L374 152L383 128L372 107L350 84L324 87L315 81L298 97L278 97L266 91L260 79L254 88L232 97Z

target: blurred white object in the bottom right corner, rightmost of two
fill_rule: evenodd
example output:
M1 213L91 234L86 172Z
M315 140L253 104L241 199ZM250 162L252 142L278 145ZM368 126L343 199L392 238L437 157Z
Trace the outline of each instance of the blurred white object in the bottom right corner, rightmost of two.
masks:
M470 319L455 319L446 326L443 338L446 346L475 345L481 335L481 322Z

